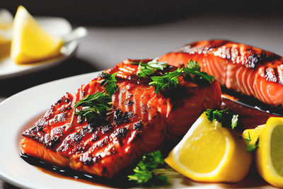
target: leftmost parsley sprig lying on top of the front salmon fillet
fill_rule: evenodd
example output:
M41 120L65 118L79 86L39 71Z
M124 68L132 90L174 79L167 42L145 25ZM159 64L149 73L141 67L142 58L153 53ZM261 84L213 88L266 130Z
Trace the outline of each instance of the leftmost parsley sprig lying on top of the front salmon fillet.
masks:
M76 111L76 115L80 115L82 120L86 118L88 122L92 122L106 115L112 108L111 102L111 96L103 91L86 96L76 103L74 108L81 106L82 108Z

